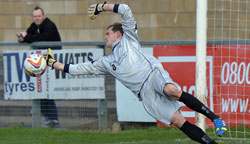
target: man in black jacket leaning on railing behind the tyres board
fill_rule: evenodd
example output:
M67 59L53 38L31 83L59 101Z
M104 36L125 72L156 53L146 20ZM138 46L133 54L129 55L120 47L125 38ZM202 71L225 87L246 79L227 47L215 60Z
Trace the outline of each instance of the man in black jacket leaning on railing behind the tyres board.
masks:
M56 25L45 16L44 10L35 7L32 11L33 23L25 32L17 35L20 43L39 42L39 41L61 41L60 34ZM49 47L36 47L36 49L48 49ZM51 49L62 49L61 46L50 47ZM55 127L59 125L58 111L54 100L40 100L41 113L45 117L43 127Z

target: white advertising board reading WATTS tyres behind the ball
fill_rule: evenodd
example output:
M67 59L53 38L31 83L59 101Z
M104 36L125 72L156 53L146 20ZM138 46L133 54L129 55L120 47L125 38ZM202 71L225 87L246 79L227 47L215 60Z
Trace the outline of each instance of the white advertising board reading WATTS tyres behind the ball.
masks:
M41 77L30 77L24 71L24 60L32 53L46 50L5 50L5 99L103 99L104 75L72 76L61 71L47 70ZM76 64L103 56L103 49L53 50L54 58L62 63Z

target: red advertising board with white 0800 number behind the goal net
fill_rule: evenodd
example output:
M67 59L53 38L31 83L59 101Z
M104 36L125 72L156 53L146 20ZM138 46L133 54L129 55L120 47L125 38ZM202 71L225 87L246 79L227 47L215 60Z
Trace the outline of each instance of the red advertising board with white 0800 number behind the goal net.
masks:
M162 62L181 89L195 95L195 45L155 46ZM250 46L207 46L207 106L229 125L250 125ZM186 106L183 115L194 123L195 113ZM208 126L211 121L207 120Z

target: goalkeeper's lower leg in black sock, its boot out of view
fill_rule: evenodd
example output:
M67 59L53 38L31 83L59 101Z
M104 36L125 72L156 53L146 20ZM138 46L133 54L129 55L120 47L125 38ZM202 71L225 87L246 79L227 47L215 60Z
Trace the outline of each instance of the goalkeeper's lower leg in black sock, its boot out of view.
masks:
M189 123L179 111L176 111L171 117L171 122L194 141L202 144L217 144L213 139L207 136L202 129Z

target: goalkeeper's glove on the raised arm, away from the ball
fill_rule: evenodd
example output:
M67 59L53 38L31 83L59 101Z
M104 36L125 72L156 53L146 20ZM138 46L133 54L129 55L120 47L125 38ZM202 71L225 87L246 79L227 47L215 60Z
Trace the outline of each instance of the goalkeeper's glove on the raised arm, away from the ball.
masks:
M104 11L103 6L105 4L106 4L106 1L103 4L97 3L97 4L90 5L88 9L89 18L91 20L94 20L98 14Z

